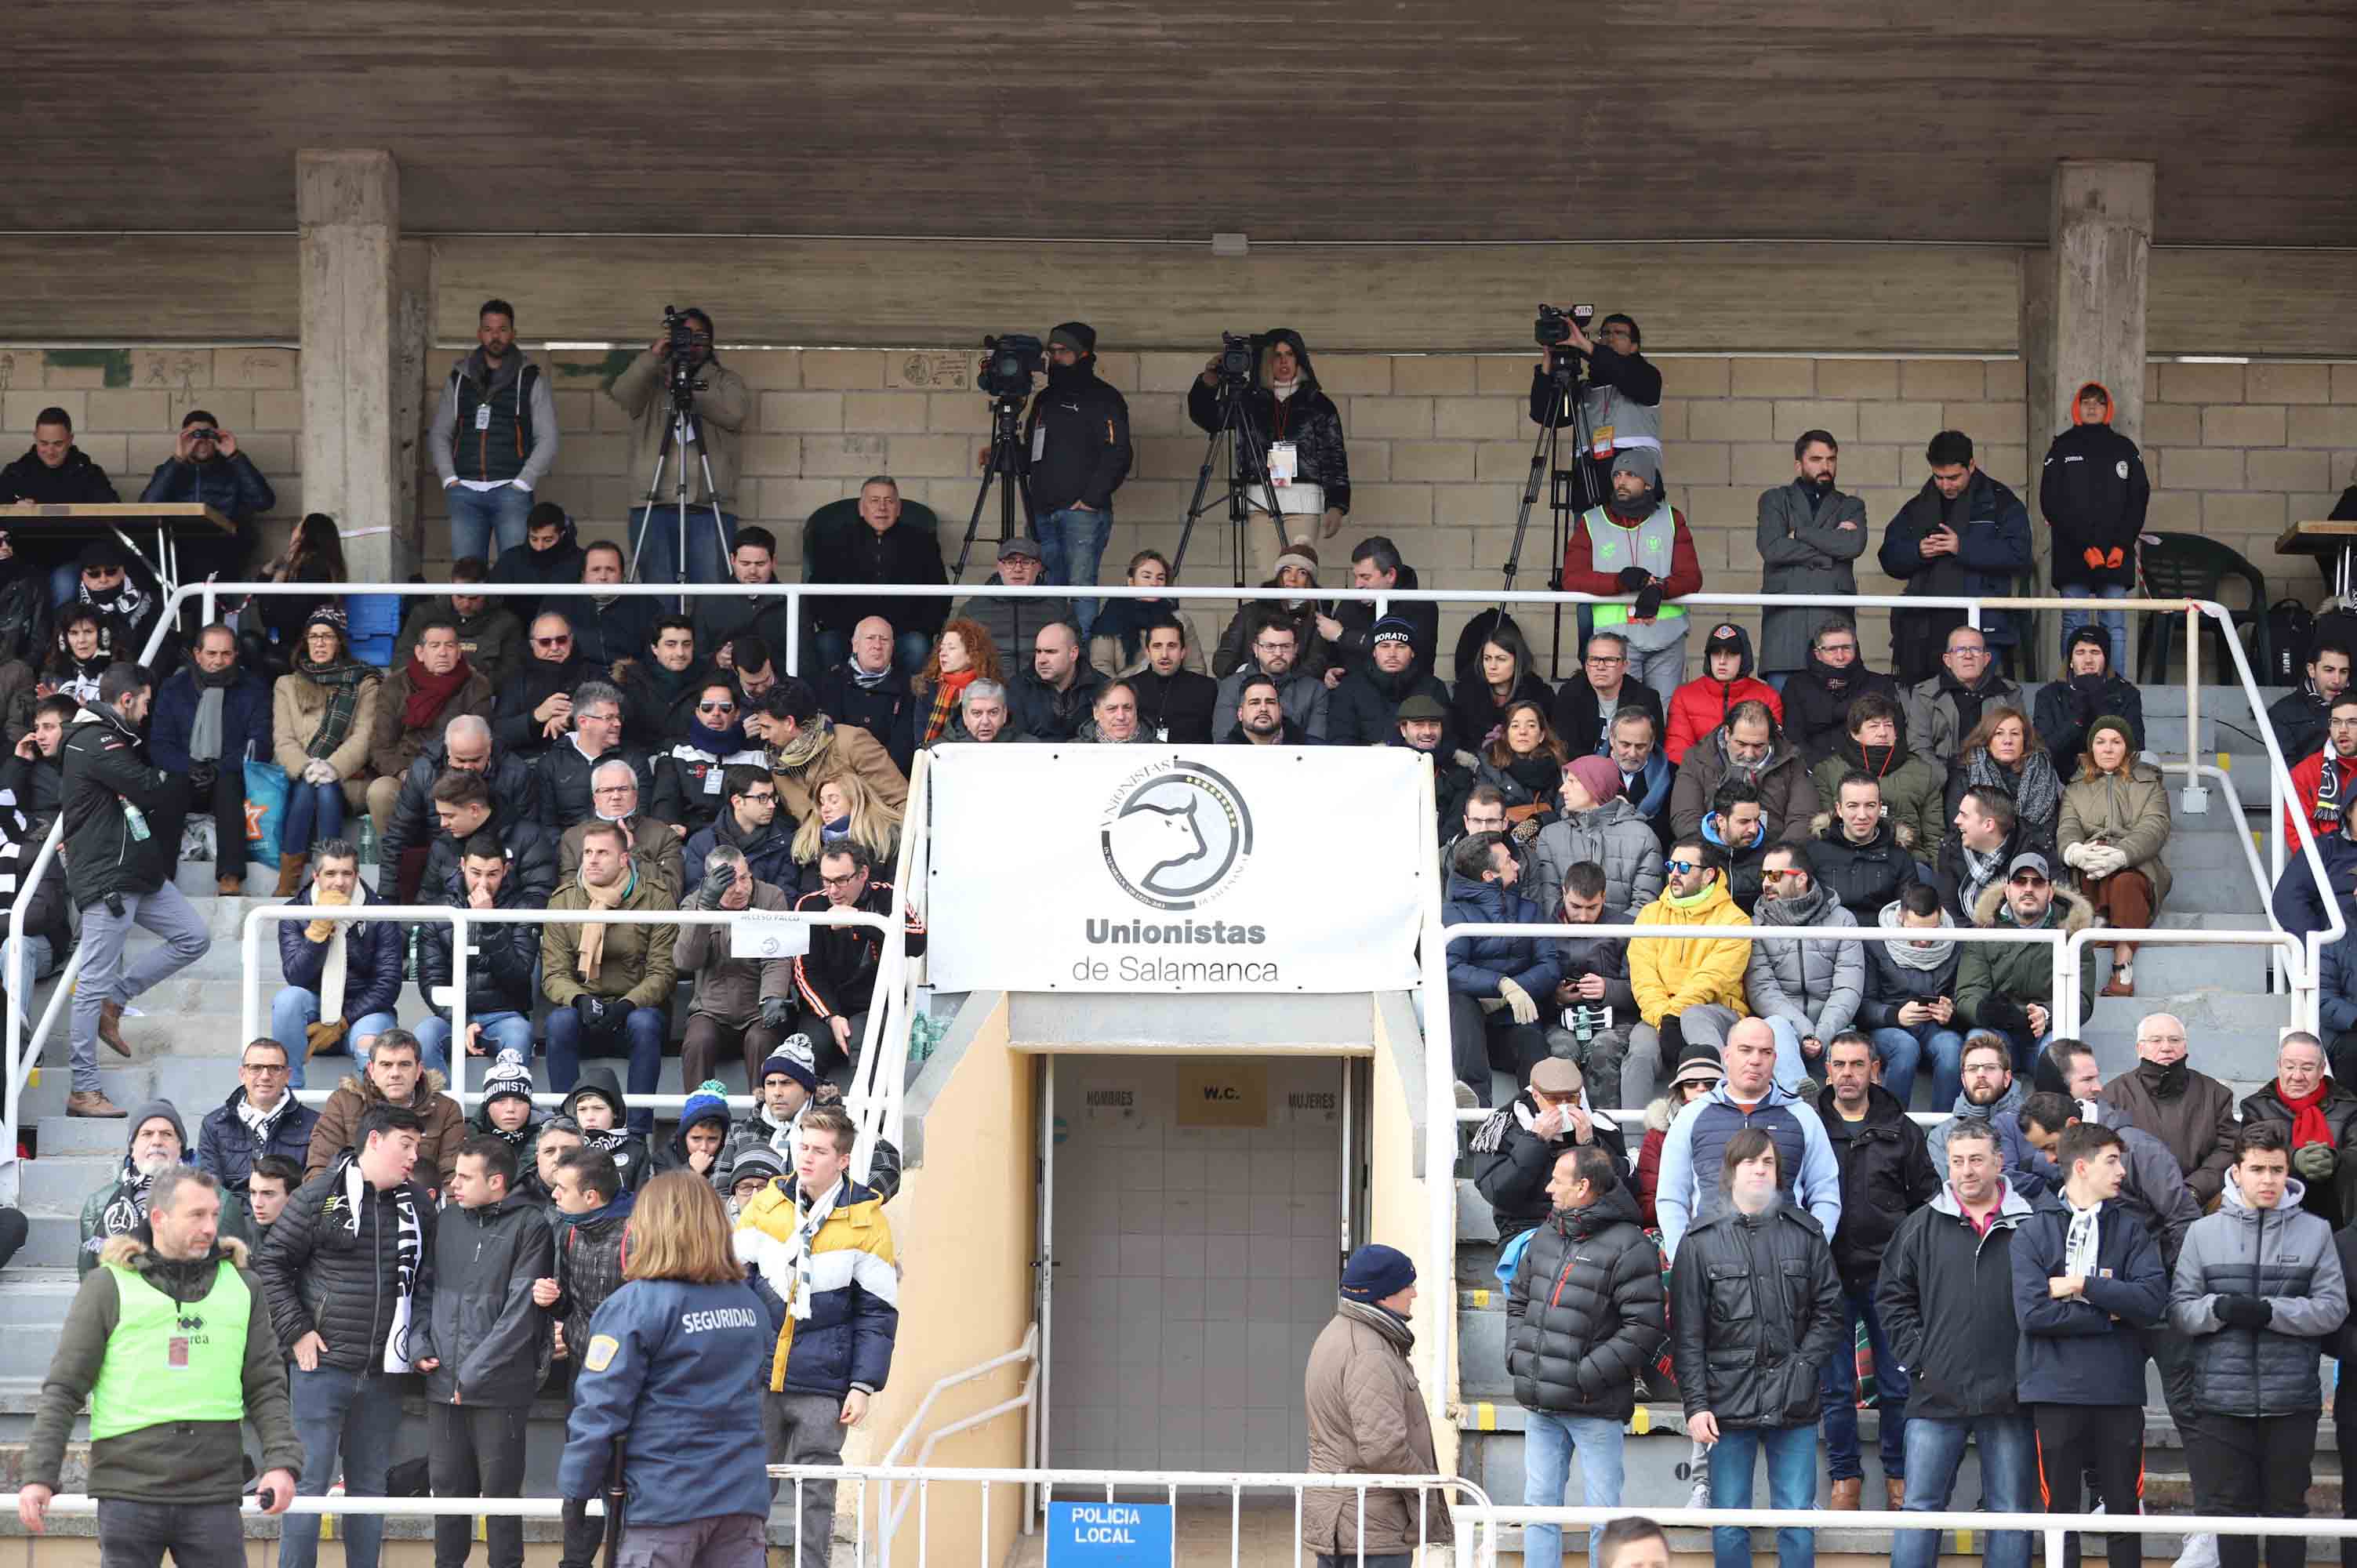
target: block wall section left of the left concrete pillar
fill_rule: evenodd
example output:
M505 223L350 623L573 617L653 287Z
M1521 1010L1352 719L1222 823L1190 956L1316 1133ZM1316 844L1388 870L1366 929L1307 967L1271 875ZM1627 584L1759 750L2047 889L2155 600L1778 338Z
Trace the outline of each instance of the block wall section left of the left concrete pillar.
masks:
M57 406L73 415L75 446L106 469L115 493L139 500L148 474L172 455L179 417L203 408L278 493L264 519L276 523L264 528L276 547L302 516L299 361L295 349L257 347L0 349L0 462L28 450L33 420Z

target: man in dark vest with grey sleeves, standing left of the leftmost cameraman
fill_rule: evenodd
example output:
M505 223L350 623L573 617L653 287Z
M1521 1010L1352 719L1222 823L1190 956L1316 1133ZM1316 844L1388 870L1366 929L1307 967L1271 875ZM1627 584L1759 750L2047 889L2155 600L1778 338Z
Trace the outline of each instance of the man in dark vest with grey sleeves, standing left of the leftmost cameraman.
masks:
M486 299L476 349L450 365L427 422L427 455L443 481L450 554L490 559L523 545L533 490L556 465L549 377L516 347L516 307Z

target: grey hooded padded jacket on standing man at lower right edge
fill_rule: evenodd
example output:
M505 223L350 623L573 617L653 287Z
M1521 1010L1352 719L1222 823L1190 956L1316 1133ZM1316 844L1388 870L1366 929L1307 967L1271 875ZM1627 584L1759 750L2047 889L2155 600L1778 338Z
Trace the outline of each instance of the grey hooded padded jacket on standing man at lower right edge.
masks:
M2227 1170L2218 1212L2185 1233L2168 1287L2168 1325L2194 1339L2194 1408L2204 1415L2296 1415L2324 1408L2317 1356L2350 1313L2331 1226L2300 1207L2293 1177L2284 1200L2253 1210ZM2267 1327L2227 1327L2220 1297L2260 1297Z

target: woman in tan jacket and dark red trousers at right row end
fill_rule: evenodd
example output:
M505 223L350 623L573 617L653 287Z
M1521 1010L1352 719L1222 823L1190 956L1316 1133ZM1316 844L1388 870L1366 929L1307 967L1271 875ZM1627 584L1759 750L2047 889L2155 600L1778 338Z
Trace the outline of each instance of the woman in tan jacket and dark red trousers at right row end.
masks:
M2143 931L2168 896L2161 851L2173 828L2161 771L2135 759L2135 731L2119 714L2086 729L2079 773L2062 790L2062 863L2112 927ZM2135 943L2112 943L2107 997L2135 995Z

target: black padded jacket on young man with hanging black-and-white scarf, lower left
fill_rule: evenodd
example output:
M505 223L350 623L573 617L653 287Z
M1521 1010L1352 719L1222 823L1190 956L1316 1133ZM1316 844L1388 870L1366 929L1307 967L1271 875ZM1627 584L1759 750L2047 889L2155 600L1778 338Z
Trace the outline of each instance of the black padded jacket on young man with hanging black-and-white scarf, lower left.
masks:
M297 1339L318 1332L328 1342L318 1358L323 1368L368 1375L382 1365L394 1306L401 1302L401 1219L394 1195L363 1181L361 1224L358 1231L351 1228L344 1170L354 1158L335 1160L295 1188L255 1252L255 1278L269 1297L271 1327L288 1356ZM424 1323L434 1313L434 1195L415 1181L405 1186L417 1210L422 1247L410 1323Z

